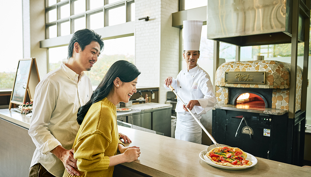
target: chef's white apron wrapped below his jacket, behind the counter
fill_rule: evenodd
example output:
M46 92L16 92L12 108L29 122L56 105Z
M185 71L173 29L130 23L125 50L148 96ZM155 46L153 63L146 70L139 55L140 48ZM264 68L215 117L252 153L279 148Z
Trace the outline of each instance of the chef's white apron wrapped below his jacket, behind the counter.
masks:
M198 120L202 118L202 116L197 116ZM191 115L177 113L175 138L201 144L202 128Z

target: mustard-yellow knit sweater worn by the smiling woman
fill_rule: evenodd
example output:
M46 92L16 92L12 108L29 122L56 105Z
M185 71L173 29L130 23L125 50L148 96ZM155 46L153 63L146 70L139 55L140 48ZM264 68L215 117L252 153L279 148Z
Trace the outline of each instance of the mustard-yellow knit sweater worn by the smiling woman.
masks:
M109 157L116 155L118 143L123 144L119 138L114 104L107 98L94 103L87 111L73 144L73 157L77 159L80 177L112 176L114 166L109 167ZM63 177L72 175L65 170Z

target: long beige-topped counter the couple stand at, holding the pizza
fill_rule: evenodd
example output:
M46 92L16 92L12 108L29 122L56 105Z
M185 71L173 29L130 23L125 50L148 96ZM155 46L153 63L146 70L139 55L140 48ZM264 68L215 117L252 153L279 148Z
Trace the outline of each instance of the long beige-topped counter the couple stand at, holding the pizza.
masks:
M16 114L15 114L16 113ZM10 118L9 118L10 117ZM0 109L1 151L0 174L27 176L35 145L27 134L30 117L18 112ZM9 120L5 120L9 118ZM12 120L15 120L12 121ZM10 122L13 123L10 123ZM258 163L244 170L224 170L208 165L199 153L208 146L182 141L158 134L118 125L118 131L131 138L128 146L138 146L141 155L137 161L116 166L115 174L156 177L203 177L203 176L310 176L311 168L304 168L258 158ZM7 153L9 152L9 153ZM19 153L20 152L20 153ZM10 158L8 160L8 158ZM11 160L11 161L10 161ZM20 164L23 165L20 165ZM9 165L8 165L9 164ZM10 173L10 174L9 174ZM12 173L18 175L12 175ZM128 174L128 176L130 176Z

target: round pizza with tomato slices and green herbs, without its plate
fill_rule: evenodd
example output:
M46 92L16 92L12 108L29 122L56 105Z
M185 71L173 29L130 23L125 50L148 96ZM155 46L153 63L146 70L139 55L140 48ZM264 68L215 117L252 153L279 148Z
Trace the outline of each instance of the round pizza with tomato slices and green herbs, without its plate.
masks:
M250 166L252 162L246 160L247 153L238 147L216 147L206 153L214 163L223 166Z

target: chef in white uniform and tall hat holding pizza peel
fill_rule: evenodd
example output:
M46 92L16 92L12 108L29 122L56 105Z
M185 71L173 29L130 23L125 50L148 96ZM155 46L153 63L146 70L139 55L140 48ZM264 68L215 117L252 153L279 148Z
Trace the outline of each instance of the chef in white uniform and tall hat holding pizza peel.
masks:
M181 70L177 78L165 79L165 88L172 85L179 97L187 104L198 120L216 104L210 76L197 65L200 57L200 39L203 21L183 21L184 53L187 69ZM201 144L202 129L194 120L183 103L177 99L177 122L175 138Z

